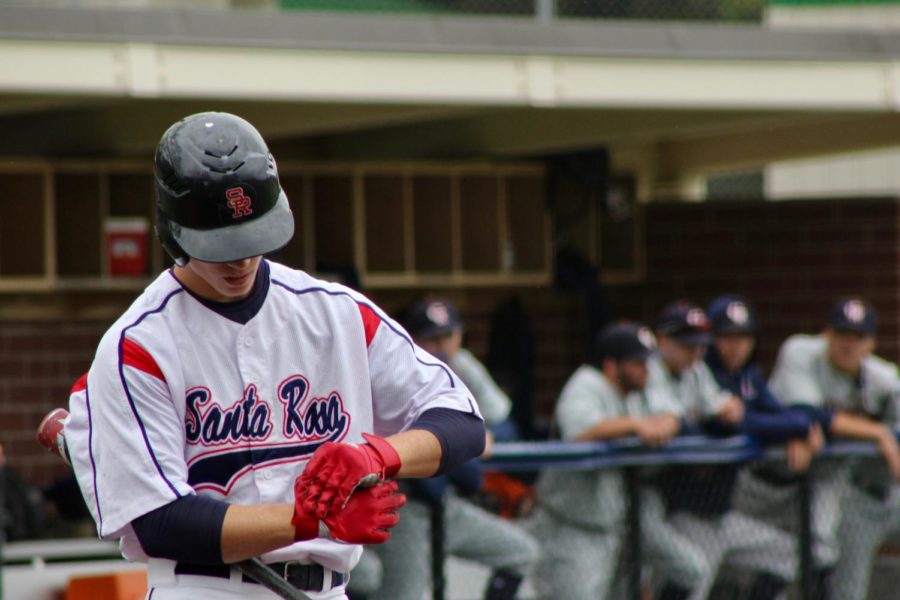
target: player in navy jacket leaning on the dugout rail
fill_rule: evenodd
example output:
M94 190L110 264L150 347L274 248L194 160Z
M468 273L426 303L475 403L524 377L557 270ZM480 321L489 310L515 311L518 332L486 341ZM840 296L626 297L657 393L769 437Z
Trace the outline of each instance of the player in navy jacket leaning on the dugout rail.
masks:
M687 315L676 309L668 315L672 325L661 325L670 327L673 333L669 336L675 339L679 331L690 331L686 327L689 319L678 325L679 314ZM745 433L764 442L796 439L805 444L807 436L818 430L805 413L787 411L781 406L753 361L758 320L750 304L740 297L723 296L710 305L708 316L713 343L707 350L705 366L696 368L708 368L720 389L731 394L726 402L737 398L743 410L736 411L742 413L739 419L723 419L721 414L716 415L715 403L707 401L708 408L697 411L688 420L687 428L713 435ZM708 330L710 325L702 329ZM661 347L667 345L669 336L660 335ZM663 357L665 362L665 354ZM679 400L688 406L703 404L685 397ZM809 464L811 451L801 455L797 450L791 456L797 456L795 468L802 470ZM692 598L707 596L723 564L757 574L748 596L754 600L777 597L795 577L793 539L771 525L732 510L738 472L739 466L734 464L683 466L668 470L664 477L672 527L699 542L710 567L707 577L694 588Z

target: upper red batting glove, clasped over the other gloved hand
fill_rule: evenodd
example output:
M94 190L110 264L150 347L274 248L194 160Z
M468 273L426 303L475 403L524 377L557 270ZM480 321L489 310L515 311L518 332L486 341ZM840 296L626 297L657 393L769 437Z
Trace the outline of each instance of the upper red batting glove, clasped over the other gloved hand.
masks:
M296 495L303 509L324 519L347 503L361 484L371 485L400 470L400 455L384 438L363 434L365 444L322 444L300 475Z

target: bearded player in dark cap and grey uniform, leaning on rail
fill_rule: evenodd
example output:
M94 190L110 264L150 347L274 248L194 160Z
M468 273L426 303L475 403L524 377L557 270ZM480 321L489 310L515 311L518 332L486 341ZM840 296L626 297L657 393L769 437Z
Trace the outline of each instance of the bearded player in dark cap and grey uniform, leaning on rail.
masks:
M678 429L667 415L632 416L626 398L647 383L653 334L634 323L601 330L595 356L566 382L554 420L567 441L638 436L666 443ZM544 471L529 528L541 544L534 585L541 598L608 598L623 538L626 495L618 470Z

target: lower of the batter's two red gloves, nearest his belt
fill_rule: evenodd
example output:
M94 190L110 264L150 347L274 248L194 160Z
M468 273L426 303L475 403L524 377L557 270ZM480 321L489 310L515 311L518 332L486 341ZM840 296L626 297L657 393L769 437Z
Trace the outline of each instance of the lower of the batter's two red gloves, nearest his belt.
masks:
M303 509L300 501L302 484L294 482L294 526L296 541L319 536L319 520ZM383 544L391 538L390 529L400 522L397 511L406 504L406 496L397 491L393 481L361 488L347 501L347 506L333 511L324 519L328 534L348 544Z

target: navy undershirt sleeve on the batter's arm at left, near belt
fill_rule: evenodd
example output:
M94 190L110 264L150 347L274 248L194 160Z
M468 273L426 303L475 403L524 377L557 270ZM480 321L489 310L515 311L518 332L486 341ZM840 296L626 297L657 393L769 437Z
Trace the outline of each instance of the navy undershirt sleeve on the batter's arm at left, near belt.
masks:
M131 522L147 556L198 564L222 563L222 524L228 503L182 496Z

